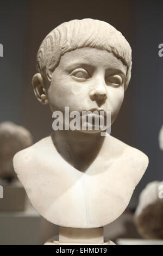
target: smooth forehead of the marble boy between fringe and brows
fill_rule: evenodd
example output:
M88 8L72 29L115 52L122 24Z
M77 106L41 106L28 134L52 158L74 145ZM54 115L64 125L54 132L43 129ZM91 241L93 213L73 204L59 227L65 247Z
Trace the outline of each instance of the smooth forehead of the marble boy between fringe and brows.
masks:
M118 69L126 74L127 67L113 53L98 50L97 48L85 47L66 52L60 59L58 68L76 68L78 65L88 65L94 68Z

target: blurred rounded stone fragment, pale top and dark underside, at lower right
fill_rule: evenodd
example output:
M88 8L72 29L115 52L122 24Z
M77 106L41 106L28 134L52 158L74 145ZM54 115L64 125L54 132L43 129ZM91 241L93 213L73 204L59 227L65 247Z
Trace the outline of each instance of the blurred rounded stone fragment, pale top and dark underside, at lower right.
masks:
M141 192L135 225L146 239L163 239L163 181L150 182Z

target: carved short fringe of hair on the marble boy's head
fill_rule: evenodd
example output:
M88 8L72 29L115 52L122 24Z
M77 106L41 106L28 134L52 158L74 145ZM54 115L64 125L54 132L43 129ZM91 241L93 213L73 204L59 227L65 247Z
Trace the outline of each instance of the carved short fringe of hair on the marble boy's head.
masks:
M51 81L52 73L66 52L83 47L94 47L112 52L127 66L124 88L131 76L131 47L121 32L109 23L83 19L64 22L54 28L42 41L37 52L37 70Z

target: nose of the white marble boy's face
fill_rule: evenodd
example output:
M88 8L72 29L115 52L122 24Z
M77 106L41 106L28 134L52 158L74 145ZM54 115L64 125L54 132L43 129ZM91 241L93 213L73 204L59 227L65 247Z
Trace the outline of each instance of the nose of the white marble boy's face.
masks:
M91 90L90 99L92 101L95 100L99 107L101 107L105 103L107 99L107 94L106 94L105 86L102 82L99 82L96 88L93 88Z

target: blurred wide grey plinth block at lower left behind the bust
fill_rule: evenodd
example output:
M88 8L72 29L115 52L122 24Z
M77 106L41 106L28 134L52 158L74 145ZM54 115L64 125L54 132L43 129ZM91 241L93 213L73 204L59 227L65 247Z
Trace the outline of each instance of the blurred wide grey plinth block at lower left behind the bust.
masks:
M42 218L30 203L22 212L0 212L0 245L43 245L58 232L58 226Z

